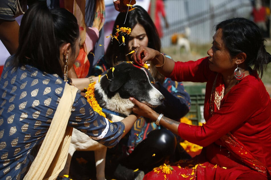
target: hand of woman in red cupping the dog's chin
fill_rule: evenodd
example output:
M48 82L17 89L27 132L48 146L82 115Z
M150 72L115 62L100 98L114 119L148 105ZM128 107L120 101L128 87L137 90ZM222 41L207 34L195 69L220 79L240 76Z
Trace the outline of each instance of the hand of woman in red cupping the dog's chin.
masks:
M152 110L148 105L137 101L133 97L130 97L130 101L132 101L135 104L135 106L132 109L135 114L149 118L152 121L156 121L159 114Z

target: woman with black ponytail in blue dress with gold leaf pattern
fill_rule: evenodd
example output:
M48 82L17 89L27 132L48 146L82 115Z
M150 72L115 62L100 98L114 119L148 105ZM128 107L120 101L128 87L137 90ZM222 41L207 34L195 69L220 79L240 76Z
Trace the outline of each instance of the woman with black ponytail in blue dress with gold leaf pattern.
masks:
M0 179L26 175L50 127L80 41L77 20L66 9L35 4L24 14L19 48L0 78ZM88 78L81 81L88 86ZM93 111L80 90L75 96L68 126L105 146L115 146L138 118L130 115L110 123Z

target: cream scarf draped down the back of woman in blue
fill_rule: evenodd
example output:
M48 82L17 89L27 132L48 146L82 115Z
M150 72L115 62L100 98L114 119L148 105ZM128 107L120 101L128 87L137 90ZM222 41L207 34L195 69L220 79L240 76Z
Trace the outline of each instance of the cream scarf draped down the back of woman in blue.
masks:
M24 179L56 179L64 168L73 129L67 124L77 91L76 87L65 84L52 123Z

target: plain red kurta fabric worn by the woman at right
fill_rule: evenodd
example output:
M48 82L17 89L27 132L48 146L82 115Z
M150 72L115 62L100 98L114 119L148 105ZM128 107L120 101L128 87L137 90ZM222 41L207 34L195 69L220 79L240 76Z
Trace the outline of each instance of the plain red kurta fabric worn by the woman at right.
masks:
M223 146L220 138L229 132L246 146L264 166L270 168L271 100L264 84L252 75L244 77L223 97L219 110L211 116L209 112L210 97L216 75L217 73L209 69L208 58L176 62L170 75L170 78L176 81L207 82L204 103L206 123L202 126L180 123L178 127L180 137L203 146L201 154L195 157L197 162L211 164L204 170L198 169L196 179L236 179L241 174L257 172L245 166ZM212 168L215 165L218 166L218 169ZM185 168L174 167L174 169L176 170L175 175L186 173ZM151 171L146 177L156 176L155 174L154 171ZM164 175L164 173L161 174ZM267 178L263 173L257 172L256 174ZM166 176L168 177L168 175Z

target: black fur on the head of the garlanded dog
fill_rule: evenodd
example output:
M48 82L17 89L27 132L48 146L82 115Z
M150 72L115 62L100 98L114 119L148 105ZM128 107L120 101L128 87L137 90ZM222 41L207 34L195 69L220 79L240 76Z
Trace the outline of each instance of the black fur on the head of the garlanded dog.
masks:
M154 82L154 78L151 76L148 70L142 70L139 66L134 66L131 63L122 62L116 65L114 72L112 68L107 71L107 77L103 76L100 80L100 84L105 94L109 98L112 98L116 93L119 93L123 99L129 97L135 97L138 101L149 101L148 90L152 89L149 81ZM146 73L149 79L146 76ZM110 79L110 80L109 80ZM146 92L142 92L144 91ZM95 90L95 98L102 108L105 107L102 95Z

